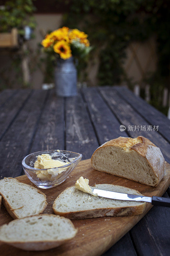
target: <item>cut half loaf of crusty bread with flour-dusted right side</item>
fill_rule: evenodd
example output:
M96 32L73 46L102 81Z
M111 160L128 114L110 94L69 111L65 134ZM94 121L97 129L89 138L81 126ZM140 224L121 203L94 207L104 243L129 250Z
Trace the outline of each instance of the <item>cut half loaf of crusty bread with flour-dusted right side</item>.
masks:
M92 167L149 186L157 186L165 175L164 157L150 140L119 137L97 148L91 157Z

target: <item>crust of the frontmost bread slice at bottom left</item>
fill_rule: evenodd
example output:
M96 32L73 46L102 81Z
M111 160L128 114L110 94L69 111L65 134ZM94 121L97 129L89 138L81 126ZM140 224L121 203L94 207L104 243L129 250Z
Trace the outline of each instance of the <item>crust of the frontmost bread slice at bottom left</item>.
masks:
M54 215L54 214L40 214L38 216L44 216L44 215L47 215L47 216L50 216L50 215ZM32 216L36 216L36 215L32 215ZM31 216L29 216L31 217ZM22 219L25 219L25 218L28 218L28 217L24 217ZM63 219L65 219L64 217L61 217ZM68 220L68 219L67 219ZM18 221L18 220L12 220L12 221ZM70 222L70 224L72 225L72 227L75 229L76 233L75 235L77 234L77 231L78 231L78 228L75 228L73 223L71 222L71 220L68 220ZM14 247L17 247L19 249L22 249L22 250L25 250L25 251L46 251L46 250L49 250L49 249L52 249L52 248L55 248L57 246L59 246L60 244L63 244L65 242L67 242L68 240L72 239L74 236L72 236L71 238L68 238L68 239L62 239L62 240L51 240L51 241L29 241L29 242L16 242L16 241L10 241L10 242L6 242L5 241L5 244L10 244ZM1 241L1 242L4 242L4 241Z

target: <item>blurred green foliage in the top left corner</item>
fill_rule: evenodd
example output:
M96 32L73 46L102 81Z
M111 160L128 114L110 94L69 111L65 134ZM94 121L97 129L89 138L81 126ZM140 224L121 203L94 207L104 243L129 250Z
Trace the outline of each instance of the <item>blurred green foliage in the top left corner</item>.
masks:
M0 9L0 32L10 32L11 28L18 28L18 33L23 35L25 26L34 29L34 11L32 0L6 1Z

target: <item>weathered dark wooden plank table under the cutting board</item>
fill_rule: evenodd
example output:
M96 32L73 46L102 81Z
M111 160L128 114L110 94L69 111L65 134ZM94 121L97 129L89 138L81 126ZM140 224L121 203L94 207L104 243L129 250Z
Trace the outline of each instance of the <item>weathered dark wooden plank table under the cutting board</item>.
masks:
M59 148L87 159L107 140L138 135L156 144L170 163L170 120L125 87L85 88L71 98L57 98L54 91L4 90L0 178L24 174L21 161L31 152ZM169 208L154 206L104 256L169 255L169 220Z

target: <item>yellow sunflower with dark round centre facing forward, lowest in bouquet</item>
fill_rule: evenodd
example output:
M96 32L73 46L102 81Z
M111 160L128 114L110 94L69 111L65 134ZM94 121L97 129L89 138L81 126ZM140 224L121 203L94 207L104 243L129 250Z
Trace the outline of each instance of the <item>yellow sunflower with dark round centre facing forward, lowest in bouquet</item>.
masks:
M54 44L53 49L56 53L60 54L60 57L64 60L72 56L70 46L64 40Z

